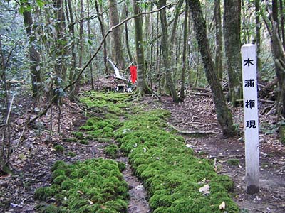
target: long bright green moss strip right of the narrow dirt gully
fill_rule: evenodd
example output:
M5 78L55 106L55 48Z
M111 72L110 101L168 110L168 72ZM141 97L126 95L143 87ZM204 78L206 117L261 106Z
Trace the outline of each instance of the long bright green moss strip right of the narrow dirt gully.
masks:
M239 212L229 197L233 182L217 175L212 160L196 158L184 138L167 132L168 111L153 110L128 116L115 133L120 148L144 182L154 212ZM207 182L207 195L199 189Z

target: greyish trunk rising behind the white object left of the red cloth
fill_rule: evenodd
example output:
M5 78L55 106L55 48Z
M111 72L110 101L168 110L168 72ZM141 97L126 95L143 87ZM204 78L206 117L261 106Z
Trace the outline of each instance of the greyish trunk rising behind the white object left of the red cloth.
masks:
M110 7L110 27L113 27L119 23L118 9L117 9L117 1L108 0ZM112 32L113 37L113 60L118 65L119 69L125 68L125 60L123 57L123 48L121 41L121 33L120 28L115 28Z

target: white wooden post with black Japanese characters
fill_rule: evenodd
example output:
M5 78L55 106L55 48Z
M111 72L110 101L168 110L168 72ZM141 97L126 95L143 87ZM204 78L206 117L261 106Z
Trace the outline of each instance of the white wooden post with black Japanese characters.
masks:
M244 141L247 193L259 192L259 121L257 109L257 48L242 46Z

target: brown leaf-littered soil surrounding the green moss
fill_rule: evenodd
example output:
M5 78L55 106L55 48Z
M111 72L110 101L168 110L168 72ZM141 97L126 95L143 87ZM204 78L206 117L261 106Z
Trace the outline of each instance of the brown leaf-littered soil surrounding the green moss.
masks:
M279 141L277 129L274 129L275 116L265 111L269 104L259 104L260 192L256 195L248 195L245 192L242 133L234 138L224 138L217 124L211 97L188 94L185 102L179 104L174 104L170 97L162 97L162 103L157 102L154 97L145 97L141 104L148 104L150 108L170 110L172 116L168 122L175 129L214 132L183 136L186 146L193 148L197 157L213 159L217 173L227 174L234 180L232 196L242 212L285 212L285 147ZM69 138L72 131L77 131L78 126L87 119L84 116L86 111L68 100L65 100L61 107L60 133L58 108L53 107L53 110L48 111L35 125L29 126L19 141L26 119L37 112L36 109L31 110L32 105L31 99L25 97L15 103L11 134L13 152L10 160L14 175L0 174L0 212L36 212L35 206L38 202L33 200L33 192L37 187L50 184L50 168L56 160L72 163L88 158L107 158L102 150L104 143L90 141L88 145L82 145L63 142L64 138ZM232 112L237 128L242 131L242 108L235 108ZM64 146L65 151L54 151L55 143ZM76 157L69 157L68 152L76 153ZM239 164L229 165L229 159L238 159ZM117 160L127 163L123 175L130 186L128 213L150 212L145 189L142 182L133 175L128 158L120 156Z

